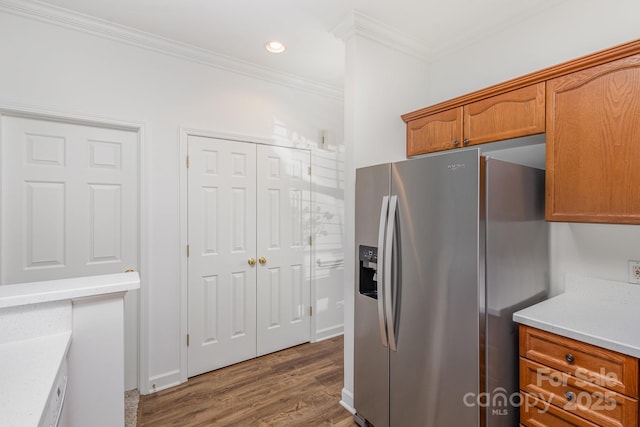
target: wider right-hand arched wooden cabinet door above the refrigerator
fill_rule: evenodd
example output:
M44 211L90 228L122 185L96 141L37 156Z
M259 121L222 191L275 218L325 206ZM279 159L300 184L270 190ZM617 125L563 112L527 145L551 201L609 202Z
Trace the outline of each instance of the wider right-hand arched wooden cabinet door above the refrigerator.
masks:
M464 145L544 132L544 82L464 106Z

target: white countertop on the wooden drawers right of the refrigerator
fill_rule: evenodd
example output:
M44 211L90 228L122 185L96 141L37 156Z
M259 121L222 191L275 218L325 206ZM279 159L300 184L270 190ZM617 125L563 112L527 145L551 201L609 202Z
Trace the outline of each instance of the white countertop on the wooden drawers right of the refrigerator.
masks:
M564 294L513 320L640 358L640 285L567 275Z

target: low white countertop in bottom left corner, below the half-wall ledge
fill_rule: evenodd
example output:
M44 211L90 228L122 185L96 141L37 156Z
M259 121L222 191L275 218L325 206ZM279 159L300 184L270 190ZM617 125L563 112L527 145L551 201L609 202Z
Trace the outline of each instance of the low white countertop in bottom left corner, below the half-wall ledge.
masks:
M37 426L71 331L0 344L0 424Z

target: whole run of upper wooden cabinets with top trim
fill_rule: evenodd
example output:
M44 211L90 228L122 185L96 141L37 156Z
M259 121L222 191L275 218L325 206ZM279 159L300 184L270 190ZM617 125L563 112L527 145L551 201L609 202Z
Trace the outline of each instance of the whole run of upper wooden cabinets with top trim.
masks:
M402 115L407 157L546 132L546 219L640 224L640 40Z

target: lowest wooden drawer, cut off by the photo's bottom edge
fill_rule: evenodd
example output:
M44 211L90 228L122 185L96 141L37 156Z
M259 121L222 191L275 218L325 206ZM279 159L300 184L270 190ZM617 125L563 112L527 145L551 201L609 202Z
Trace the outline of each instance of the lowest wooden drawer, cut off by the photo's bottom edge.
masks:
M520 423L527 427L598 427L584 418L536 400L527 393L522 393Z

